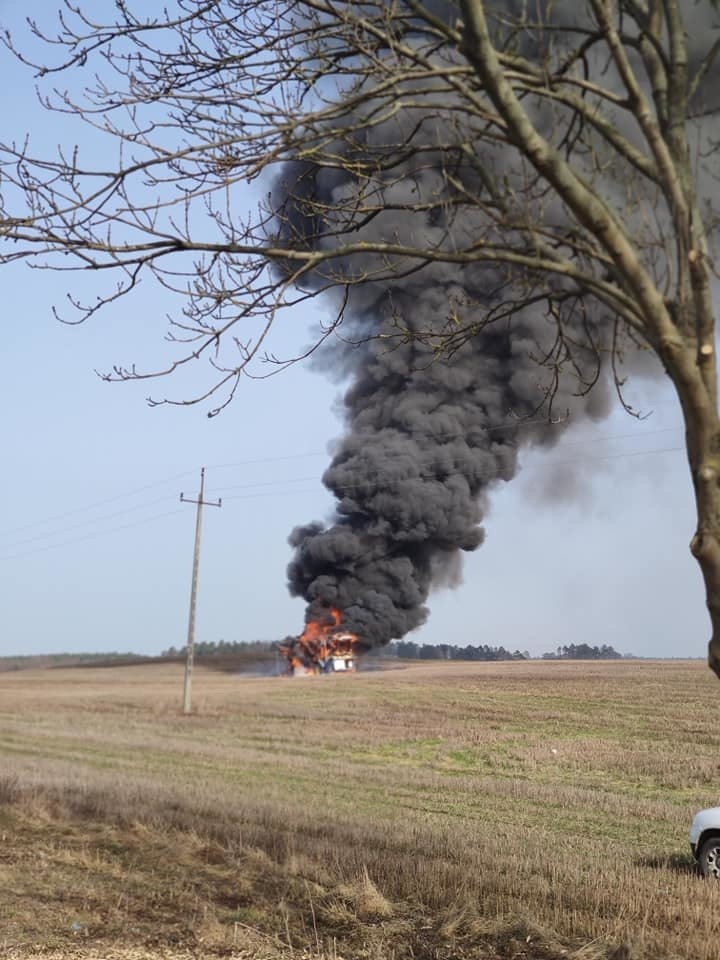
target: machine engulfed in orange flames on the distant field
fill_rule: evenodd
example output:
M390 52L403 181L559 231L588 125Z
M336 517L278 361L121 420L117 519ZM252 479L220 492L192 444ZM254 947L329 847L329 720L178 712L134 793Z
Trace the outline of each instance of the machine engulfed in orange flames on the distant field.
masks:
M292 676L357 670L361 645L354 633L341 628L341 620L340 611L331 608L327 621L309 620L299 637L288 637L280 644Z

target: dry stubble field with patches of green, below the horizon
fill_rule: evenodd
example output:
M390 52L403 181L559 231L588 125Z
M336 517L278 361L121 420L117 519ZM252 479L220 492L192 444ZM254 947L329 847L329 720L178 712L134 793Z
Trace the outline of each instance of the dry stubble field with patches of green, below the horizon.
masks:
M177 666L1 675L0 950L715 960L687 828L717 802L716 684L199 670L183 718Z

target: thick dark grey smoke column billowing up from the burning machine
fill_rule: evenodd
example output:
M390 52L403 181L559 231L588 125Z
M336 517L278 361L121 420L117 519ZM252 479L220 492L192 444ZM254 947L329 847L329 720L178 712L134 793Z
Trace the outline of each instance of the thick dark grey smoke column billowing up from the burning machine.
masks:
M288 166L276 191L284 239L318 249L365 239L448 250L487 236L485 215L464 197L483 190L477 164L462 159L472 129L432 94L425 103L335 145L346 159L374 165L370 181L356 178L352 164ZM506 155L485 151L486 174L501 177ZM363 216L370 208L373 216ZM546 206L541 216L566 215ZM336 515L293 530L289 587L308 602L308 618L337 607L343 626L374 646L425 621L433 587L458 583L462 551L482 543L487 496L515 475L519 448L555 442L564 427L549 423L553 412L563 423L603 417L609 378L602 350L592 349L602 346L601 324L573 301L563 316L577 334L572 362L539 363L553 355L557 329L543 302L502 310L533 293L521 275L453 263L389 268L371 256L332 269L376 279L349 286L345 342L323 355L350 381L345 436L323 477ZM497 319L479 323L451 356L434 352L429 331L488 317ZM562 350L557 359L568 361Z

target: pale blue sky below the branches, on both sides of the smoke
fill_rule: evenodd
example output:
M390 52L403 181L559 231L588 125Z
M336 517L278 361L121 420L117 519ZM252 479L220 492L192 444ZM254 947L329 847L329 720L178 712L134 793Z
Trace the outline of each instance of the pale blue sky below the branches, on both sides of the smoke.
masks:
M8 8L4 20L19 19ZM38 144L81 136L49 121L27 75L0 57L6 129L30 129ZM0 655L182 645L195 517L179 496L196 495L202 465L207 495L223 507L204 516L197 639L297 633L304 607L287 593L286 541L332 507L319 478L342 432L342 386L294 368L245 383L213 420L204 407L149 409L145 395L163 385L109 385L94 370L167 357L164 315L174 305L147 287L132 308L64 327L50 308L76 282L20 265L2 275ZM279 336L302 342L316 320L299 314ZM704 655L680 415L662 386L640 386L634 399L653 415L617 412L525 456L491 497L486 543L466 559L463 584L431 597L413 639ZM576 475L574 499L552 497L554 471Z

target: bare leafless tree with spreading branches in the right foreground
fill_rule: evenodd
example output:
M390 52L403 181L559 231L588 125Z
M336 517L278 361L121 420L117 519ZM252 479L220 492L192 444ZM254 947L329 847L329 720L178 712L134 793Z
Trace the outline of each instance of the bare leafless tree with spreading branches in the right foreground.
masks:
M212 412L241 377L298 359L269 353L269 332L320 295L332 314L308 352L332 335L411 345L417 363L502 340L503 363L542 373L503 394L526 419L552 420L608 376L633 412L625 377L654 356L686 426L720 675L711 0L131 6L96 23L65 0L56 34L30 24L34 61L6 37L48 108L119 150L92 168L5 144L3 259L109 276L97 299L74 298L76 319L146 275L182 297L167 368L108 378L204 356L207 389L179 402L216 397Z

